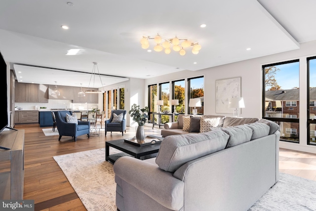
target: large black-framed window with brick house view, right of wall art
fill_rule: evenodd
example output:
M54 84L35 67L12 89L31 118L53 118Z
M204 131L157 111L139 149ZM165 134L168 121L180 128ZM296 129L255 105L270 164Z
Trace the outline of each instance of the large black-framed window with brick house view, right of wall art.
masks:
M299 72L299 59L262 66L262 117L280 126L280 141L299 143Z

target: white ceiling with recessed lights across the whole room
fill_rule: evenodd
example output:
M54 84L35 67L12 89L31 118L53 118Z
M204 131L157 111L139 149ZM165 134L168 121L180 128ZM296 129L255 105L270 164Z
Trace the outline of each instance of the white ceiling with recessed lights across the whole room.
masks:
M87 86L97 62L101 75L119 77L102 79L110 85L125 77L196 71L298 49L299 43L316 40L315 0L69 1L74 5L67 0L0 1L0 51L22 72L17 77L23 82ZM198 54L188 48L184 56L142 49L142 36L157 33L202 48ZM65 55L71 48L79 48L79 54ZM79 77L78 72L90 75Z

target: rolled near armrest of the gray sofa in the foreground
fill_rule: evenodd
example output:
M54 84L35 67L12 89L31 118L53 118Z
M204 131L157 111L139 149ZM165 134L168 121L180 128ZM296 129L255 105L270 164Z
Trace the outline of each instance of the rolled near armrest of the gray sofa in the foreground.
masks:
M184 206L184 182L173 177L172 173L129 156L120 157L113 168L116 177L134 186L162 206L170 210L180 210Z

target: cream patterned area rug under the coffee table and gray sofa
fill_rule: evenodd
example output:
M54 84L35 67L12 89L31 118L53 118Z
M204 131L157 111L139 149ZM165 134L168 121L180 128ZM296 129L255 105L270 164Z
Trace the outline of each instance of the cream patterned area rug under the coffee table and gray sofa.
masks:
M113 165L105 161L104 148L54 159L88 211L116 211ZM249 211L316 211L316 181L280 173L276 185Z

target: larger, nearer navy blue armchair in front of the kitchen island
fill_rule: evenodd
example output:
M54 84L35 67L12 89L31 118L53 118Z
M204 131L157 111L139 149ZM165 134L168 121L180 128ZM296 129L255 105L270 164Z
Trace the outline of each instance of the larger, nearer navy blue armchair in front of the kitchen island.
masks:
M59 132L59 141L61 136L72 136L77 141L77 136L87 134L90 137L90 123L87 121L78 121L76 123L67 123L66 114L72 115L71 111L55 111L57 129Z

